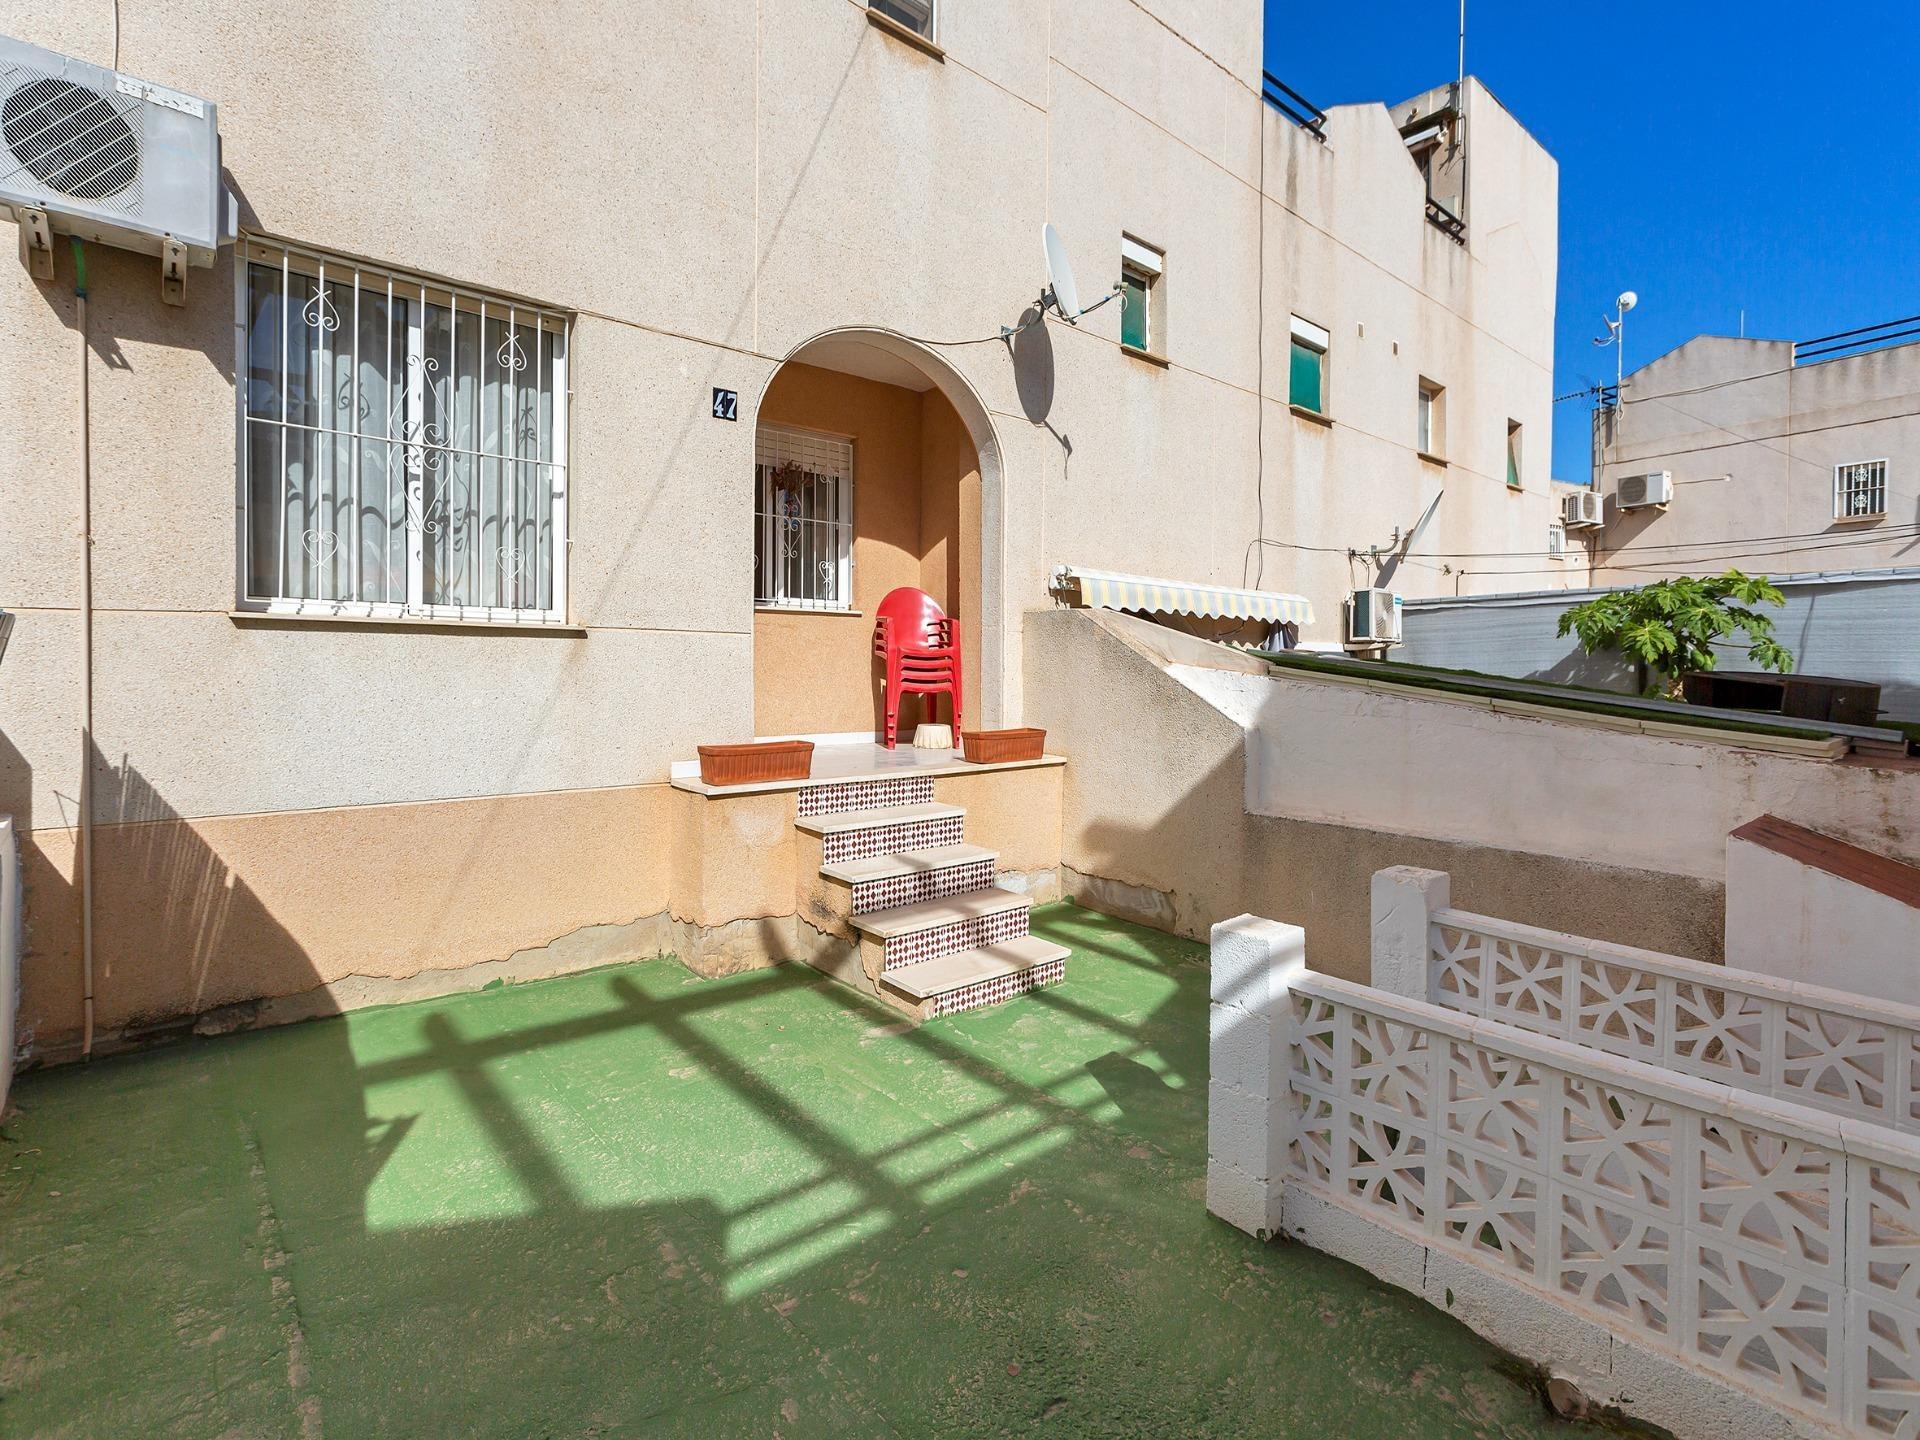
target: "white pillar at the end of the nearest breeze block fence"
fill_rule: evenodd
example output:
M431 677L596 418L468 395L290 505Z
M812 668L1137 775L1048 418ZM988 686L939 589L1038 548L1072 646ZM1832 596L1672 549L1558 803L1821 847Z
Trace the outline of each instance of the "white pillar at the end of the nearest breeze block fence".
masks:
M1208 1004L1206 1208L1248 1235L1281 1229L1288 1021L1306 931L1260 916L1213 925Z

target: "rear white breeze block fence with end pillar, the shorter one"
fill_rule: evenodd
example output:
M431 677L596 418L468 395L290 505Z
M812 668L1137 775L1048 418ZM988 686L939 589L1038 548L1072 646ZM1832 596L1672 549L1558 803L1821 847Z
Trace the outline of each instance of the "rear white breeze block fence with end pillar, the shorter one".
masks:
M1920 1010L1448 906L1382 870L1373 983L1448 1010L1920 1135Z

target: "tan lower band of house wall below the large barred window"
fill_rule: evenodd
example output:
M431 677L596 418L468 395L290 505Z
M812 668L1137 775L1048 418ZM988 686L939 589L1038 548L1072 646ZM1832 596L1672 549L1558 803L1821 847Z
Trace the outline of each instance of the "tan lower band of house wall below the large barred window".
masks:
M257 998L324 1012L488 962L634 958L649 937L616 931L668 906L666 785L180 820L111 774L154 818L94 829L102 1037ZM31 831L23 862L19 1037L61 1056L81 1033L75 831Z

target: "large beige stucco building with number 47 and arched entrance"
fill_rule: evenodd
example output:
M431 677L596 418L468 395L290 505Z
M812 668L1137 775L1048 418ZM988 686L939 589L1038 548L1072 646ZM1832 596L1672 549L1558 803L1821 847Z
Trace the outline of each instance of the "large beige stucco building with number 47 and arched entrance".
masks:
M970 722L1018 724L1064 564L1338 639L1442 492L1425 549L1548 553L1553 159L1471 79L1283 113L1254 0L0 29L138 77L113 106L215 104L234 211L184 296L88 244L83 311L65 236L0 278L40 1052L81 1029L83 804L102 1033L618 958L687 862L670 766L872 732L895 586L958 616ZM0 161L63 175L33 115L94 102L8 84ZM1127 303L1037 317L1046 221Z

